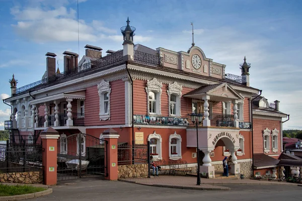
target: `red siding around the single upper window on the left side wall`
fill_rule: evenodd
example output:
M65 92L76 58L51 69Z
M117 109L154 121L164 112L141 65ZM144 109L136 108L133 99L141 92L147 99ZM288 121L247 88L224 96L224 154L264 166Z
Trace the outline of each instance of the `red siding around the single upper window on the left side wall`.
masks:
M100 97L97 86L86 89L85 126L125 124L125 83L110 82L110 120L100 121Z

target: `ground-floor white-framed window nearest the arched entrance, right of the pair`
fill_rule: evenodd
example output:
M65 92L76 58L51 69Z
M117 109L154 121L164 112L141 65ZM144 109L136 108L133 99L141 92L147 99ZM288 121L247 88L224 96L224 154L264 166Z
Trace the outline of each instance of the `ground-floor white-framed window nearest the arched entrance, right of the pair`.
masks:
M182 158L181 155L181 136L174 132L169 137L169 159L178 160Z

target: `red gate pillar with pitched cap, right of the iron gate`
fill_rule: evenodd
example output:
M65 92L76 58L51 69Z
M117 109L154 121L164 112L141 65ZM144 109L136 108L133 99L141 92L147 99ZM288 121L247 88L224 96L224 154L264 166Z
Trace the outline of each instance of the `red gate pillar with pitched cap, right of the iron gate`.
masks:
M105 153L105 167L107 167L107 176L105 177L105 179L117 180L117 139L119 138L118 132L116 132L112 128L107 129L103 132L103 138L104 140L108 141L107 150Z

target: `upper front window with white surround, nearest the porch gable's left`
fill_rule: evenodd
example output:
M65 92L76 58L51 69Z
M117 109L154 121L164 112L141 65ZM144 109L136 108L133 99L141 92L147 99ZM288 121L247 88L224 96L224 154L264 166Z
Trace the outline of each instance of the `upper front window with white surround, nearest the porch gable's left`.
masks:
M169 88L167 90L168 97L169 97L169 116L181 116L181 91L182 86L179 85L177 82L169 84Z

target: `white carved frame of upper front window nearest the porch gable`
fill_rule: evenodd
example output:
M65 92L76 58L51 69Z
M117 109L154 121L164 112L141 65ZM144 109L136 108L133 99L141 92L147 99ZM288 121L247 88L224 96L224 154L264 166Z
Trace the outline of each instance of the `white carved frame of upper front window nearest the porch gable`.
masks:
M168 101L169 101L169 116L181 117L181 91L182 86L178 84L176 81L168 86ZM171 95L176 95L176 114L171 114Z

